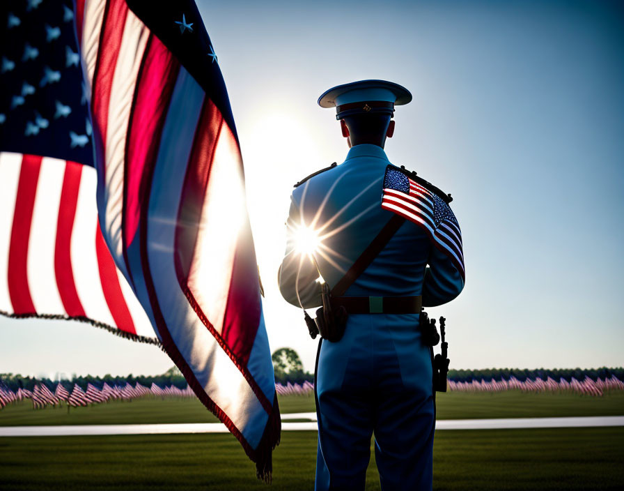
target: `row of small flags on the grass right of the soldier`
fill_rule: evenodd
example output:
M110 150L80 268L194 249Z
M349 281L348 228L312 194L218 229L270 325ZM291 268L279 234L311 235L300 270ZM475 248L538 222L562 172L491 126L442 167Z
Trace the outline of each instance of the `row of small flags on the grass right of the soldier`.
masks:
M509 391L513 389L519 389L524 392L575 392L582 395L595 395L600 396L605 391L624 391L624 382L618 377L612 375L611 378L604 378L593 380L587 376L582 381L579 381L572 377L570 382L566 379L559 379L559 382L547 377L546 380L539 377L535 380L526 379L521 382L515 377L509 377L508 380L502 378L501 380L492 379L490 382L481 379L481 381L473 380L472 382L453 382L448 381L449 391L464 391L464 392L500 392Z

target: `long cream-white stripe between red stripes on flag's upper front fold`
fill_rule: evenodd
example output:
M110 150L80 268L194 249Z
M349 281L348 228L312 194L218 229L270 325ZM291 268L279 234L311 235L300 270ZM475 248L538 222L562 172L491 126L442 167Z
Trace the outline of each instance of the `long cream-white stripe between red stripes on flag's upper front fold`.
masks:
M128 11L123 37L119 48L119 56L115 66L113 82L111 84L111 98L108 109L107 134L104 166L106 176L106 216L104 227L107 233L104 237L109 239L108 246L117 266L125 271L123 259L122 241L122 217L123 217L123 181L124 181L124 158L125 142L128 122L130 121L130 109L134 97L134 86L137 82L141 59L145 51L150 32L143 22Z

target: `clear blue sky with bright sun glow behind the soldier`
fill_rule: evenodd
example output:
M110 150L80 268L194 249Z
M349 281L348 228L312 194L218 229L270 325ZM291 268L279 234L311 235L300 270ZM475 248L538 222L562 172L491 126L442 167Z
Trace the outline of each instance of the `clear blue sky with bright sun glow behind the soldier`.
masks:
M389 160L453 195L451 368L624 365L624 10L593 1L198 1L240 138L271 349L316 342L276 277L292 184L348 151L331 86L409 89ZM0 372L157 374L157 347L0 318Z

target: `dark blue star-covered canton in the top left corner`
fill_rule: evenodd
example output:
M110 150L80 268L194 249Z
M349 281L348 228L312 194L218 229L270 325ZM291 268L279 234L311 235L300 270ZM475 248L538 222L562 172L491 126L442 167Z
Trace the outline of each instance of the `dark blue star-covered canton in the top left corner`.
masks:
M0 6L0 150L93 165L72 1Z

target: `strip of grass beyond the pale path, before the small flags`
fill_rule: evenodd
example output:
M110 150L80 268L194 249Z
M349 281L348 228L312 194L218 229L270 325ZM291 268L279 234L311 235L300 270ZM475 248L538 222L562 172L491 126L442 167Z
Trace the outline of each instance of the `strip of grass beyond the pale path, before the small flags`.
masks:
M286 413L314 411L313 396L290 395L279 399ZM438 419L536 418L551 416L624 416L624 393L601 398L572 393L438 393ZM132 402L112 401L91 407L47 407L33 409L30 401L0 410L0 426L107 425L132 423L216 422L196 399L141 398Z

